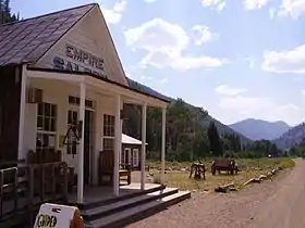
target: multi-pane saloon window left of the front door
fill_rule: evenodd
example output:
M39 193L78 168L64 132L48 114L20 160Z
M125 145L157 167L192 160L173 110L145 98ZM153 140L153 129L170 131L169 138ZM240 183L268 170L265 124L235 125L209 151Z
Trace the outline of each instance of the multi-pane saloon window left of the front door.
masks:
M57 135L57 105L38 103L36 150L54 151Z

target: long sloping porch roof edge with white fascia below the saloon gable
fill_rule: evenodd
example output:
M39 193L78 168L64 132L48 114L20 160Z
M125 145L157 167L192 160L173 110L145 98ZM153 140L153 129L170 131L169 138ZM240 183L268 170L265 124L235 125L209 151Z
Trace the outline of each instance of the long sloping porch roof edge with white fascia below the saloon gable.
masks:
M130 99L138 100L141 101L141 103L147 103L147 105L151 106L167 107L167 105L171 102L168 99L149 94L147 92L131 88L129 86L110 80L106 77L100 77L87 72L61 71L34 66L27 66L26 69L30 74L29 77L60 79L75 83L86 81L90 86L100 87L105 90L120 93ZM41 73L44 73L44 75Z

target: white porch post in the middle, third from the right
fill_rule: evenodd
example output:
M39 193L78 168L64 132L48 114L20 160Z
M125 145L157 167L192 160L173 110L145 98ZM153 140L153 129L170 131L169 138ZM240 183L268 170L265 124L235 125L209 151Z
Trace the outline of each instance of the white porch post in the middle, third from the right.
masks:
M121 129L121 96L118 94L117 98L117 107L115 107L115 140L114 140L114 167L113 167L113 194L115 197L120 193L120 152L122 148L121 137L122 137L122 129Z

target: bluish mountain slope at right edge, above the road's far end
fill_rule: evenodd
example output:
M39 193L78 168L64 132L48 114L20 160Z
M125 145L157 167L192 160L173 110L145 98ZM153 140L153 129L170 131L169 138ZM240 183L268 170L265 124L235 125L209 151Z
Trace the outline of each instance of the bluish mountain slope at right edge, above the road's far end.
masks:
M305 139L305 123L302 123L291 128L279 138L274 139L273 142L277 144L278 148L282 150L288 150L292 145L300 143L304 139Z

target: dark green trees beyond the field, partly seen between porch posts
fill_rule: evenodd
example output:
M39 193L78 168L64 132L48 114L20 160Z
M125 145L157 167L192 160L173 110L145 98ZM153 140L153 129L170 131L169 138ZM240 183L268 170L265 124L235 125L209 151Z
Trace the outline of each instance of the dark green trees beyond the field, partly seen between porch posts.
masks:
M124 106L123 131L141 139L142 109ZM213 122L203 124L208 112L194 107L182 99L172 102L167 110L167 160L194 161L215 156L261 157L277 156L281 151L269 140L242 143L239 135L220 135ZM157 160L161 149L161 110L147 109L147 157Z

